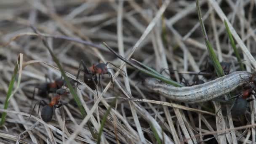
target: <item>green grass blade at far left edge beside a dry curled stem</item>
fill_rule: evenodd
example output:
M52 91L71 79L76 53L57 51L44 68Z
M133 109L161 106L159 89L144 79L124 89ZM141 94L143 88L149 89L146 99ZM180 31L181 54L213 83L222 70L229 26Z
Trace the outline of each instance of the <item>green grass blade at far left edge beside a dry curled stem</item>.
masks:
M16 76L17 76L17 73L18 73L18 64L19 64L19 60L17 61L16 65L14 67L14 70L13 70L13 75L11 77L11 81L10 81L10 84L8 86L8 91L7 91L7 95L6 95L6 99L5 99L5 104L4 104L4 108L3 109L7 109L8 108L9 99L10 99L10 96L12 94L13 85L14 85L14 82L15 82L15 79L16 79ZM7 113L3 112L2 117L1 117L0 126L3 126L3 124L5 123L6 115L7 115Z

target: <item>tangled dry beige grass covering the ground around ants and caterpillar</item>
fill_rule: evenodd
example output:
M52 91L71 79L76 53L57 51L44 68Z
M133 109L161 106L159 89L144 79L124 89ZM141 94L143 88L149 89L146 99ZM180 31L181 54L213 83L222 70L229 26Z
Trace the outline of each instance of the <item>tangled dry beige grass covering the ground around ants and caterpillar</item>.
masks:
M205 29L219 61L231 62L231 72L239 69L224 25L224 19L227 18L238 51L245 60L243 63L246 70L253 72L256 68L253 58L256 54L253 28L256 2L225 0L218 4L215 0L199 1ZM45 123L40 116L35 117L38 107L33 112L34 116L28 120L31 107L36 102L32 100L35 85L44 83L45 75L52 79L61 76L50 53L29 27L30 24L48 37L50 47L64 70L69 73L71 81L77 75L81 59L88 67L99 61L111 61L118 67L123 67L128 77L118 76L119 72L114 75L110 70L115 80L114 89L110 78L105 75L105 79L101 81L104 90L101 92L98 86L98 96L96 91L82 83L77 94L87 113L86 117L82 117L72 96L68 95L61 97L61 101L68 104L56 109L56 117L50 123ZM53 38L61 35L82 39L95 46ZM230 105L226 107L226 104L216 101L203 104L170 101L146 89L141 83L144 76L125 66L123 61L101 45L103 42L121 56L141 61L158 72L162 68L200 72L205 69L208 61L208 51L193 0L2 0L0 113L7 112L7 117L0 129L0 142L96 143L97 139L92 137L86 124L90 121L93 131L98 133L102 118L116 96L136 99L117 100L107 117L101 136L101 142L105 144L155 144L156 135L166 144L200 143L208 138L213 139L204 141L205 143L256 142L256 131L253 128L255 101L250 102L248 112L240 117L224 114L229 111ZM18 71L14 84L16 93L5 110L3 107L8 84L19 53L23 53L23 60L19 63L23 65L23 69ZM173 80L180 83L181 75L177 71L174 73ZM170 77L168 72L163 75ZM193 75L182 75L192 83ZM200 78L209 81L205 77ZM72 83L75 84L75 81ZM49 101L47 97L35 96L35 99ZM139 99L148 100L141 102ZM220 107L223 114L220 111L214 115Z

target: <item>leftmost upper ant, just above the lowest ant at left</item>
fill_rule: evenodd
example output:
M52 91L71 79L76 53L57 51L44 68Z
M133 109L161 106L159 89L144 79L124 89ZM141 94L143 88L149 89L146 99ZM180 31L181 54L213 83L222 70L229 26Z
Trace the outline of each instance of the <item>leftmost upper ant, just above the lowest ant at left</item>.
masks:
M49 79L50 82L48 82L47 79ZM45 75L45 81L46 81L45 83L35 86L32 99L35 98L36 88L38 89L37 95L41 97L45 97L45 96L48 96L49 93L55 93L56 90L58 90L63 85L65 85L65 81L62 79L62 77L51 82L51 79L47 75Z

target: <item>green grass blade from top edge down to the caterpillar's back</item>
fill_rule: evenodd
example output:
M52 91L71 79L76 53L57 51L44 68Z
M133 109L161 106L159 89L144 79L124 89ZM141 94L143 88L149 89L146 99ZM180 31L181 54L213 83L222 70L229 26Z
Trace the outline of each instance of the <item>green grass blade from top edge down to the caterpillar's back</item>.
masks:
M218 77L224 76L224 72L223 72L223 69L221 67L221 64L219 63L219 60L217 59L217 56L213 51L211 43L208 40L207 33L206 33L206 30L205 30L205 25L203 24L203 21L202 21L203 18L202 18L202 13L201 13L201 9L200 9L200 5L199 5L198 0L196 0L196 6L197 6L198 19L199 19L199 22L200 22L200 26L202 28L202 32L203 32L203 36L204 36L204 39L205 39L205 44L206 44L207 50L209 52L209 56L211 58L211 61L213 62L213 66L216 69L216 73L217 73Z

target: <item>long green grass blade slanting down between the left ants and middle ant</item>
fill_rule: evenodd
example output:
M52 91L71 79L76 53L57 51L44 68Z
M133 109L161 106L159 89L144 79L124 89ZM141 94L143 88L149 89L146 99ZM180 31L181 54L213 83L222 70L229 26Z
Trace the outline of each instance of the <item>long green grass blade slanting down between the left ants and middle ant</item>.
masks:
M69 82L68 78L67 78L67 75L65 74L64 72L64 69L61 67L61 64L59 62L59 60L56 58L56 56L54 55L53 51L51 50L50 46L48 45L47 41L45 40L45 37L42 37L42 35L40 35L39 32L37 32L37 30L35 29L35 27L32 27L32 29L34 30L35 33L37 33L39 35L39 37L42 39L43 41L43 44L45 45L45 47L48 49L48 51L50 52L51 54L51 57L53 58L53 61L57 64L57 66L59 67L59 70L61 71L61 75L64 77L64 80L67 84L67 87L69 88L69 92L72 94L72 96L74 97L76 103L77 103L77 106L79 107L80 109L80 112L82 114L83 117L85 117L87 114L85 112L85 109L83 108L83 105L79 99L79 97L77 96L77 93L75 91L75 89L72 87L71 83ZM93 131L93 128L91 127L90 123L88 123L88 128L90 129L91 131L91 134L93 136L93 138L97 138L96 134L94 133Z

